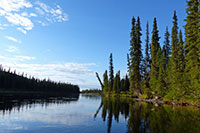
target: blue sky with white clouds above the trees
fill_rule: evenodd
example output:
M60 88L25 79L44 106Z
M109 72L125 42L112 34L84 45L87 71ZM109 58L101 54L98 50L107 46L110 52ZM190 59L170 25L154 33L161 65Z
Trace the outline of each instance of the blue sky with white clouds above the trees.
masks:
M160 43L171 31L174 10L183 29L184 0L0 0L0 64L40 79L99 88L94 72L126 72L131 19L145 25L157 17ZM143 47L144 49L144 47Z

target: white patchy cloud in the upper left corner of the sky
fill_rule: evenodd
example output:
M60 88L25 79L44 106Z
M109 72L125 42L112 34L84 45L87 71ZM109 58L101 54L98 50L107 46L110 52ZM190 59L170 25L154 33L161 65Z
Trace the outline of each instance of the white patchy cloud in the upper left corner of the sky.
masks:
M68 21L68 15L59 5L50 7L43 2L31 3L29 0L0 0L0 16L24 34L32 30L35 23L46 26L48 23Z

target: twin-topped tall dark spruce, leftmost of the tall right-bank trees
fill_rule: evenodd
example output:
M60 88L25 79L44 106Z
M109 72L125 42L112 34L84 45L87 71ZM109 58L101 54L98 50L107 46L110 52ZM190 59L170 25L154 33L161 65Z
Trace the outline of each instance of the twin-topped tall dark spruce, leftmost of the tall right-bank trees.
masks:
M131 48L130 48L130 84L131 91L136 95L141 94L141 27L140 18L137 18L135 25L135 18L132 19L132 32L131 32Z

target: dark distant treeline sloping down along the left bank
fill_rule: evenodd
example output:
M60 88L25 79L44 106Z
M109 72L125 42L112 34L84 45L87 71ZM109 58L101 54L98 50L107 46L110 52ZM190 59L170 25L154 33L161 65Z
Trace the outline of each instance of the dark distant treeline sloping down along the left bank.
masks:
M77 85L57 83L51 80L40 80L34 77L27 77L22 73L16 74L16 71L6 71L0 65L0 90L1 91L26 91L26 92L45 92L45 93L79 93Z

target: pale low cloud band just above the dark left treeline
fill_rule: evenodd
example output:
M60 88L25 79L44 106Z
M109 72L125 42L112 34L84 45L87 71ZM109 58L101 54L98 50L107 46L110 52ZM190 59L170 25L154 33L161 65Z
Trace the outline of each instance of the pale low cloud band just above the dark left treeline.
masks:
M95 72L91 69L91 67L96 67L95 63L27 63L35 59L31 56L0 56L4 68L11 68L20 73L25 72L39 79L50 78L53 81L78 84L81 88L96 88L99 85Z

